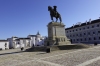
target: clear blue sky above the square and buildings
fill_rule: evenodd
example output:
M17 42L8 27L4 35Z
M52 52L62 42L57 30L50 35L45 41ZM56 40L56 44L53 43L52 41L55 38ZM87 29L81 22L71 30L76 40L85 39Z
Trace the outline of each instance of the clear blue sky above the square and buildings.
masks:
M100 17L100 0L0 0L0 39L47 36L48 6L57 6L66 27Z

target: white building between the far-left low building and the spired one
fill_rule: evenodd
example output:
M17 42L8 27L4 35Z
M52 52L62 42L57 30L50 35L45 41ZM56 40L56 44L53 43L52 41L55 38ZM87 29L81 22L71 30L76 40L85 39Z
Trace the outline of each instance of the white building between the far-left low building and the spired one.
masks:
M9 41L9 48L20 48L20 44L24 44L25 47L30 47L30 38L11 37L7 39Z

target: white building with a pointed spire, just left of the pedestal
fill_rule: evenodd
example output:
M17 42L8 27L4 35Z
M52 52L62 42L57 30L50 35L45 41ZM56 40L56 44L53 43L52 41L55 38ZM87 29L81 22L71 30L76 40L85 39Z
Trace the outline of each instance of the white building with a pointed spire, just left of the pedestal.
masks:
M28 35L28 38L31 39L31 46L44 46L45 36L41 36L39 32L36 35Z

